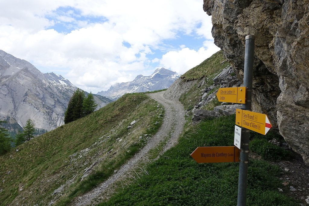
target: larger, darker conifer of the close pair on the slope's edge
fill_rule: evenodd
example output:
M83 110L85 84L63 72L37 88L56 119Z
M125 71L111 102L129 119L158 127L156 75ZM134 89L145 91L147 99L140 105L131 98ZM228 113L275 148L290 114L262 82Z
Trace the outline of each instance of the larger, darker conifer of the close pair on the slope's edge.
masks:
M83 101L85 99L85 93L81 89L77 89L71 97L68 108L66 109L64 116L64 123L67 124L74 120L83 117Z

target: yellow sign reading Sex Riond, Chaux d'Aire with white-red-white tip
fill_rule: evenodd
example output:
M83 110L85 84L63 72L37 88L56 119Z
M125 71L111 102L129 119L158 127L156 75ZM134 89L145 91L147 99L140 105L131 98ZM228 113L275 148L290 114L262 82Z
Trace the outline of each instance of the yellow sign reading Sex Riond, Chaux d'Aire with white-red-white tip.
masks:
M241 109L236 109L235 124L264 135L272 127L267 115Z

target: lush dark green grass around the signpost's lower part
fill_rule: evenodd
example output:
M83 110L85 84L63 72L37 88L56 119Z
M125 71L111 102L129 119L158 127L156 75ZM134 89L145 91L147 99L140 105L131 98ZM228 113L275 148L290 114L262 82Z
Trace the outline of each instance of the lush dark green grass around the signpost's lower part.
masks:
M198 146L233 145L234 124L232 115L190 127L175 147L146 166L146 174L99 205L237 205L239 163L197 164L190 157ZM296 205L280 174L265 160L250 160L247 205Z

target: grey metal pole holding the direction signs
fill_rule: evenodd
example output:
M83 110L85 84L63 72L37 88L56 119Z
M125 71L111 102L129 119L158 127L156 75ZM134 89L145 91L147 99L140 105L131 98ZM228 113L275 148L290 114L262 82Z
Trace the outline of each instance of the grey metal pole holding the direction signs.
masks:
M246 103L243 104L243 110L251 111L252 97L252 77L253 77L253 61L254 61L254 39L253 35L246 36L245 46L245 62L243 86L246 90ZM241 146L239 156L239 178L238 178L238 198L237 205L245 206L247 198L247 176L248 176L248 159L249 159L249 129L242 128Z

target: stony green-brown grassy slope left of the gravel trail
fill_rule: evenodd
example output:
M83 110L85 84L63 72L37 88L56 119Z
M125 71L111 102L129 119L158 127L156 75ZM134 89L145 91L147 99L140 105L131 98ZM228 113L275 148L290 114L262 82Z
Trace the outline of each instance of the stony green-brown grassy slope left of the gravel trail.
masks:
M0 205L48 204L53 191L64 186L62 201L91 189L145 143L143 134L155 134L162 122L158 103L144 94L127 94L92 114L45 133L0 156ZM130 122L136 124L128 130ZM110 137L109 137L110 136ZM119 142L117 138L121 138ZM112 150L111 150L112 149ZM128 152L129 151L129 152ZM80 183L84 170L97 159L94 175Z

